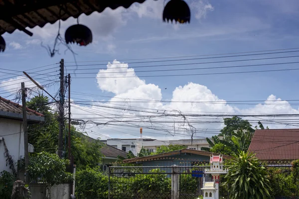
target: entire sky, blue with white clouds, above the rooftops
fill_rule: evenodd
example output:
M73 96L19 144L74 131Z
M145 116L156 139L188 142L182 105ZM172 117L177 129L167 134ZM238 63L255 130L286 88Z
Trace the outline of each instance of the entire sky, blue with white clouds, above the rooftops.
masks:
M71 45L75 55L60 44L50 57L42 47L53 48L58 22L30 29L32 37L4 33L0 96L14 100L22 81L33 87L16 71L54 96L64 59L72 118L88 121L77 127L94 138L138 138L140 127L144 137L163 140L211 137L223 128L224 114L272 114L244 118L253 126L261 120L270 128L298 128L296 117L273 116L299 113L297 0L186 0L190 24L163 22L166 2L81 15L93 41ZM61 36L76 22L62 21Z

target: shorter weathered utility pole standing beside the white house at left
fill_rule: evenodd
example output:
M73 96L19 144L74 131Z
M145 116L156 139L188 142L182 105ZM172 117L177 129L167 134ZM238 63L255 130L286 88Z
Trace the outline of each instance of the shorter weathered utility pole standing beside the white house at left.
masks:
M26 92L25 84L21 83L22 89L22 112L23 112L23 132L24 132L24 158L25 158L25 184L29 185L30 177L27 172L29 166L29 151L28 151L28 132L27 132L27 109L26 109Z

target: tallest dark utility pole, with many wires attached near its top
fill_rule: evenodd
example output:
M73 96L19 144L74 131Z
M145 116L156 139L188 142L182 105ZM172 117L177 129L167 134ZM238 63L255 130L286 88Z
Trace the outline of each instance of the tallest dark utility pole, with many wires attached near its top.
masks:
M59 91L59 134L58 134L58 156L62 157L62 132L64 127L64 60L60 61L60 91Z

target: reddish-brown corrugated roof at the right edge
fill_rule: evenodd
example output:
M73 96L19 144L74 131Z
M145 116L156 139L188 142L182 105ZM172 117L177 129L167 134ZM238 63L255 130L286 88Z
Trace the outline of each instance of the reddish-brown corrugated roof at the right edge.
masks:
M264 161L299 159L299 129L256 130L248 150Z

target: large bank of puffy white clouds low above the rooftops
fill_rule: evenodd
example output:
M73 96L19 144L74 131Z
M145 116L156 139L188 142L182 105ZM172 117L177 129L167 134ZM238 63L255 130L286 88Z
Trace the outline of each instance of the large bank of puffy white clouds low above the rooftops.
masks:
M120 76L134 76L134 78L116 78ZM91 106L76 105L74 110L72 109L72 113L90 113L90 115L86 116L89 120L106 124L87 124L86 128L94 133L108 135L113 138L137 138L139 137L140 126L149 128L145 128L145 131L148 133L144 133L144 136L157 139L190 138L192 127L196 129L194 138L198 138L197 136L210 137L213 133L218 134L219 129L224 126L223 123L219 122L209 123L211 120L223 121L223 117L190 117L187 113L215 115L299 113L299 110L293 108L288 101L276 98L274 95L270 95L264 103L257 104L251 108L237 108L228 104L225 100L219 99L206 86L195 83L178 86L172 93L171 101L163 102L161 101L161 89L157 85L146 84L144 80L141 80L135 74L134 69L128 67L128 64L120 63L116 60L109 63L106 70L100 70L97 77L102 77L97 79L99 88L105 92L112 92L115 96L107 102L91 102ZM180 113L182 115L179 115ZM173 114L176 114L176 116L173 116ZM252 124L255 126L259 119L273 120L274 118L247 117L245 119L254 119L255 122ZM198 123L196 121L203 122ZM285 122L265 122L264 126L269 126L270 128L294 128L294 126L286 125ZM100 134L98 136L91 134L91 136L107 139L107 137L103 137Z

